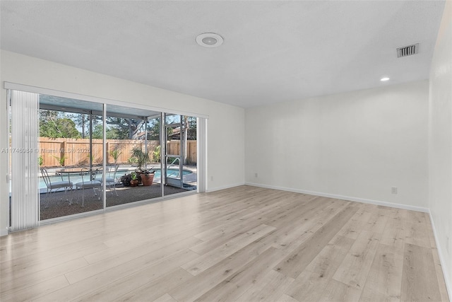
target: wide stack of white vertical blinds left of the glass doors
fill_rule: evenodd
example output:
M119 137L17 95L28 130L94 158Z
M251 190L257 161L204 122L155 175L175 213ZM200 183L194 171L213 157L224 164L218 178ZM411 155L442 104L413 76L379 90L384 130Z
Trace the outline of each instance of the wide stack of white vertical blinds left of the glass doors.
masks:
M11 91L11 231L39 223L39 95Z

